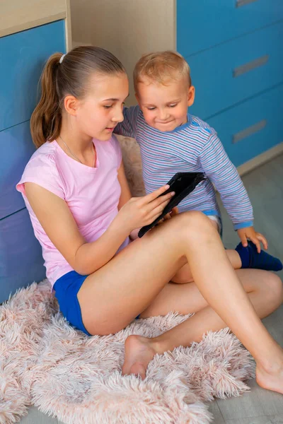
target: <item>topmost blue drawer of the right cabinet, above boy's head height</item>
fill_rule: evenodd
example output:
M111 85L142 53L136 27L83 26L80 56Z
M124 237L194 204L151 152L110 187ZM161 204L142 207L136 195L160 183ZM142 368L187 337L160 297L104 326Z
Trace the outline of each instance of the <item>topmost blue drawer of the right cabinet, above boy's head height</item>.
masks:
M282 0L177 0L177 49L195 54L280 19Z

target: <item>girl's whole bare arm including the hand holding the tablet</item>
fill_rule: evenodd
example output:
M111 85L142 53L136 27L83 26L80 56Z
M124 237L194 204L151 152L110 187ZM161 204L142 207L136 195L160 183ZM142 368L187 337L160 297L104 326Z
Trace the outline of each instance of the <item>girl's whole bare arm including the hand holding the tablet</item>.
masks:
M71 267L88 275L107 264L134 228L151 223L163 211L169 195L158 197L168 186L147 196L132 198L121 209L108 230L95 242L86 242L66 202L33 182L25 183L25 195L35 216L54 246Z

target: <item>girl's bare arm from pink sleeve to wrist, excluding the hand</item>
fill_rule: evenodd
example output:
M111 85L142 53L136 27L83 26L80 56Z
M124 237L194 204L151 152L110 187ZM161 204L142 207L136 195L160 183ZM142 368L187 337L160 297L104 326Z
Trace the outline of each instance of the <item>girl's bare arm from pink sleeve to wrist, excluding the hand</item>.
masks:
M63 199L33 182L25 183L25 195L54 246L82 275L106 264L129 235L129 228L115 219L96 242L87 243Z

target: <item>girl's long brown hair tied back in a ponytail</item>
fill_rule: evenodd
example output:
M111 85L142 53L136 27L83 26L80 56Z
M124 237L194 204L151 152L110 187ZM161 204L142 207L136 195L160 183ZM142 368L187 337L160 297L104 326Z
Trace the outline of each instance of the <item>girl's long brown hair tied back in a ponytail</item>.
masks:
M37 148L57 139L64 98L83 98L93 72L109 75L126 71L117 57L100 47L76 47L64 55L54 53L47 60L40 78L40 102L30 118L30 132Z

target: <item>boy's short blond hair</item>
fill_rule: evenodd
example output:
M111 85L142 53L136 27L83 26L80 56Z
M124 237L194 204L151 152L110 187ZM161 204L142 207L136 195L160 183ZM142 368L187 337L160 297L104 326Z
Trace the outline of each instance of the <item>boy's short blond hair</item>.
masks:
M134 66L134 90L137 93L137 84L143 77L166 85L169 79L178 80L182 76L187 78L190 87L190 66L181 54L170 50L143 54Z

